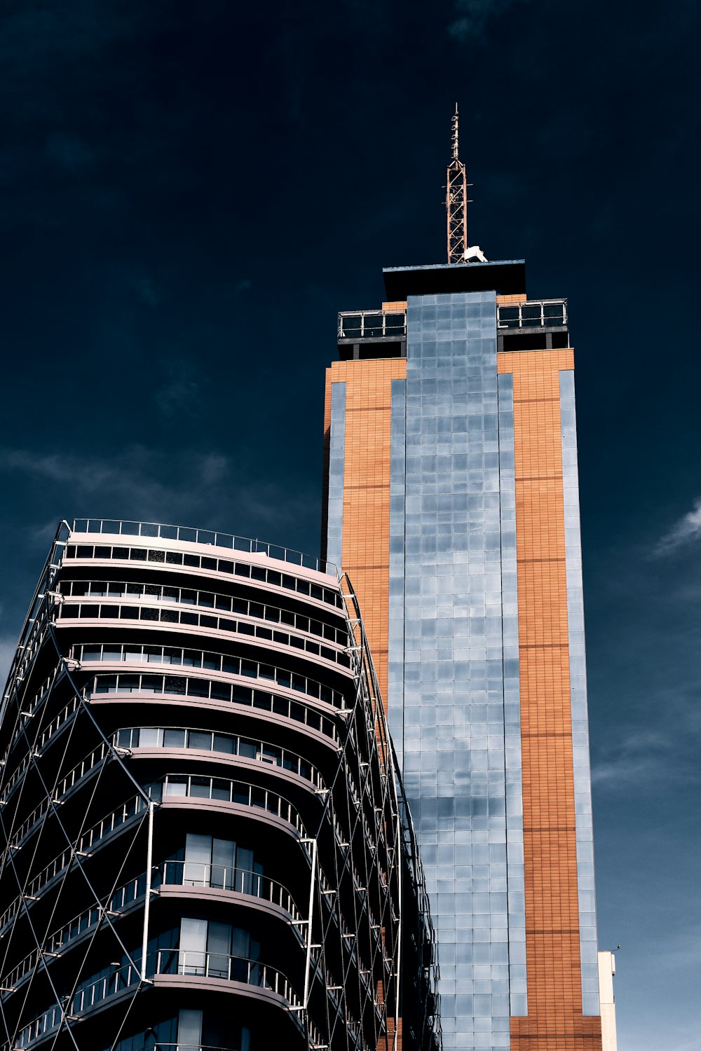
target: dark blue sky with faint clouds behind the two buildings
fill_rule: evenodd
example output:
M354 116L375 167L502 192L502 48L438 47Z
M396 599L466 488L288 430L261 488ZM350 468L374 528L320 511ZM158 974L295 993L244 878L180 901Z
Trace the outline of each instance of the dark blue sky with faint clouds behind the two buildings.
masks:
M335 312L471 243L568 296L601 947L620 1051L697 1051L695 0L5 0L8 662L59 517L318 544Z

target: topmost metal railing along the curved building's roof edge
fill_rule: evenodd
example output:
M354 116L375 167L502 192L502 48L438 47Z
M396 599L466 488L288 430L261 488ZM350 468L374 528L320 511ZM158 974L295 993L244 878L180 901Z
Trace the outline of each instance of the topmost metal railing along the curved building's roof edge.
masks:
M187 543L203 543L213 548L227 548L229 551L241 551L249 555L267 555L292 565L301 565L307 570L315 570L328 576L337 576L336 566L332 562L306 555L293 548L283 548L280 544L268 543L265 540L253 540L250 537L234 536L232 533L220 533L214 530L195 529L189 526L166 526L161 522L128 521L123 518L74 518L69 523L73 533L100 533L110 536L139 536L161 540L178 540Z

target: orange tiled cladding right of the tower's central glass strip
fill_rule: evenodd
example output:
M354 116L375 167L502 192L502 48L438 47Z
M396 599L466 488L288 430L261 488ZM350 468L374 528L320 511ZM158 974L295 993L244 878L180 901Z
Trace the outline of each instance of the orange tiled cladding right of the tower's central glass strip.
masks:
M582 1015L560 433L566 350L497 355L514 377L528 1017L512 1051L600 1051Z

